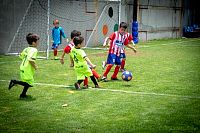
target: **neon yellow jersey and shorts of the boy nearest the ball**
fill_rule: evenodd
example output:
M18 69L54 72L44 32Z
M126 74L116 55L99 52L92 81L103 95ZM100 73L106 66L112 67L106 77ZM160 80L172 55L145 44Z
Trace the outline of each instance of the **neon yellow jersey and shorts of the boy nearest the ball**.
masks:
M72 48L70 56L74 61L74 69L77 74L77 80L83 80L85 77L92 76L92 71L88 67L88 64L85 60L86 53L82 49Z

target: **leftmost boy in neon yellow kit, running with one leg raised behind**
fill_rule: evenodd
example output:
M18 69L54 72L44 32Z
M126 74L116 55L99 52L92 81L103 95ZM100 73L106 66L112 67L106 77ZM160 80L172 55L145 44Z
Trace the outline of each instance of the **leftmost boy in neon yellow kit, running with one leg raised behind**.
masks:
M37 70L37 65L35 60L37 58L38 50L36 47L39 44L39 36L37 34L29 33L26 36L26 40L29 44L29 47L25 48L20 54L22 63L20 65L20 77L21 81L11 80L8 89L10 90L14 85L19 84L24 86L24 89L20 95L20 98L26 98L26 92L29 87L33 87L34 83L34 74Z

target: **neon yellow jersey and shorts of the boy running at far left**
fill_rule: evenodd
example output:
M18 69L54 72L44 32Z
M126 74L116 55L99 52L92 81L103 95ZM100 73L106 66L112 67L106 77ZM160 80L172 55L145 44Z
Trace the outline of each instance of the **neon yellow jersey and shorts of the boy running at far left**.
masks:
M22 59L22 63L20 65L21 80L27 82L30 85L33 85L34 82L33 76L35 74L35 69L29 61L35 62L37 53L38 50L35 47L28 47L25 48L19 56Z

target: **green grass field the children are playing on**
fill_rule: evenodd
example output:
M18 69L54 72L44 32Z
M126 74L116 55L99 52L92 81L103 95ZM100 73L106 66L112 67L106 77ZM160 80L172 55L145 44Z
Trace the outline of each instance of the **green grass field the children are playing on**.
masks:
M107 51L85 51L102 74ZM140 43L137 54L127 49L134 79L100 82L100 89L74 89L69 56L64 65L37 64L36 84L21 100L21 86L7 89L19 79L20 59L0 56L0 132L200 132L200 39Z

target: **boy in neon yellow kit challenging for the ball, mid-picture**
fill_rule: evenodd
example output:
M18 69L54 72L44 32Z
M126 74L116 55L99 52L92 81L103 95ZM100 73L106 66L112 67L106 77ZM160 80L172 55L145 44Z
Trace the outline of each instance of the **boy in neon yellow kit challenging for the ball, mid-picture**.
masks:
M69 53L74 61L74 69L77 74L77 82L74 84L76 89L81 89L80 84L83 82L83 80L87 77L90 77L92 82L95 85L95 88L99 88L99 85L95 79L95 77L92 74L91 69L88 67L91 66L91 68L95 68L96 65L92 64L90 59L86 56L86 53L81 49L81 44L83 43L84 38L74 37L74 45L75 47L71 49L71 52Z

